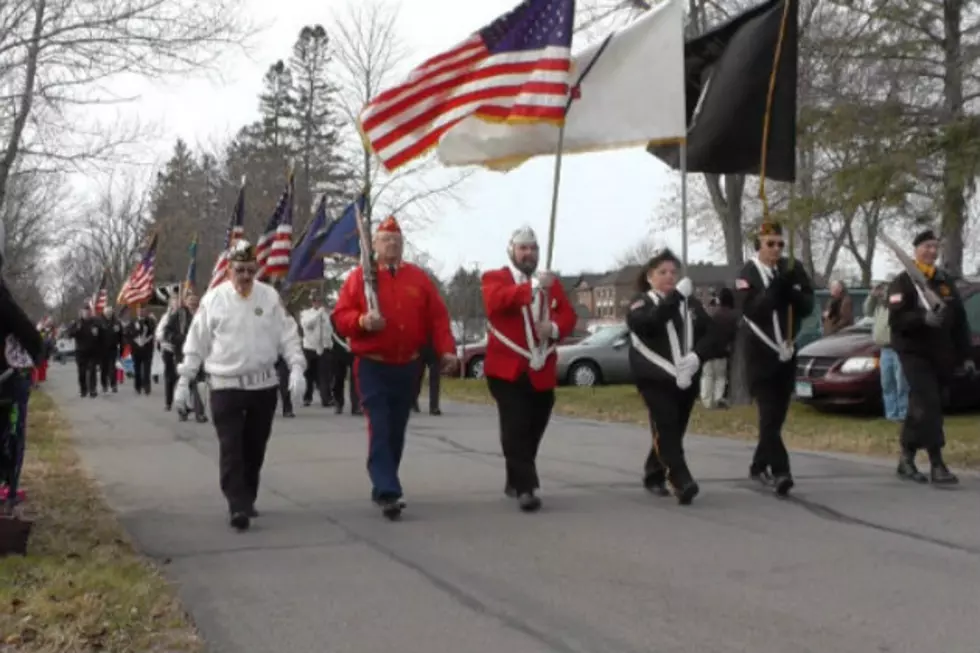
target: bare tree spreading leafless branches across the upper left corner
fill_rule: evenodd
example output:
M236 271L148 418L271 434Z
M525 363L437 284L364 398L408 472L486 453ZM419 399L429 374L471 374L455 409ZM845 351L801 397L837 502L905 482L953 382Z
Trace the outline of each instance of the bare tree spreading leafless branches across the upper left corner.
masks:
M91 138L78 109L119 103L125 76L186 76L250 28L244 0L6 0L0 3L0 205L19 157L78 163L124 140ZM43 116L43 120L38 119ZM71 135L73 138L56 138ZM73 143L81 145L73 146Z

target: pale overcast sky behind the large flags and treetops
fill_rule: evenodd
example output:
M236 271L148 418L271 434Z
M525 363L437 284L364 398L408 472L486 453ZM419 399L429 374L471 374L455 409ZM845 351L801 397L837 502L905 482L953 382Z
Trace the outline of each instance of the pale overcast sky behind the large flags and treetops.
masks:
M419 63L451 47L515 2L404 0L400 32L413 50L413 63ZM336 8L340 3L249 0L248 6L253 19L265 29L250 55L235 54L226 59L220 79L211 76L121 91L140 94L137 102L122 110L122 118L138 117L141 122L159 124L159 138L145 143L149 159L164 162L177 137L191 144L221 143L254 120L265 70L277 59L288 57L303 25L321 22L329 33L331 6ZM412 234L413 243L438 261L437 272L442 276L459 265L502 265L509 234L523 224L533 226L544 244L553 168L553 158L541 158L507 174L478 172L464 187L465 206L448 207L424 232ZM650 237L652 230L656 240L679 252L679 230L665 229L652 220L656 210L676 195L671 184L678 178L678 173L642 150L567 157L559 200L555 269L564 273L609 269L619 254L632 243ZM691 260L710 258L706 243L691 243ZM717 257L715 260L723 262ZM882 261L880 272L887 266L888 262Z

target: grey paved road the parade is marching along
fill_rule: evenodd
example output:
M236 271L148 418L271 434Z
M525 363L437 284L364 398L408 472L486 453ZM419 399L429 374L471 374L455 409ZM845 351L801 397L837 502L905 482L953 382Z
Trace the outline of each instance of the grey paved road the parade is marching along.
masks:
M163 562L214 653L904 653L980 650L980 480L910 487L891 464L797 453L793 500L746 480L744 443L691 438L702 495L646 495L647 435L556 419L546 509L501 492L493 413L412 421L409 510L369 504L361 420L277 420L262 517L231 532L210 425L160 394L49 391L84 461Z

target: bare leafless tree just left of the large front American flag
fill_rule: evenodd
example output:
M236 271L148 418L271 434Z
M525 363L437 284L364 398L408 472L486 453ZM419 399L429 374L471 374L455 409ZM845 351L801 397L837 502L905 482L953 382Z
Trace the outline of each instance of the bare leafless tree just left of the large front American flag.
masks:
M398 34L398 12L383 0L353 0L327 28L334 44L340 100L349 125L381 91L401 81L409 50ZM420 228L446 202L462 204L458 191L471 172L441 168L432 158L387 173L356 134L348 134L352 167L359 171L355 192L370 188L372 213L397 214L403 226Z

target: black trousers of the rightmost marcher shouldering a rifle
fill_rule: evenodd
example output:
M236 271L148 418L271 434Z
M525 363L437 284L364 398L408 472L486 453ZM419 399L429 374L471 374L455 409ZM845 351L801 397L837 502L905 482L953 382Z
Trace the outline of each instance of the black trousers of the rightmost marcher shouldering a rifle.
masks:
M936 458L946 446L943 431L946 383L930 360L909 354L899 354L898 359L909 384L909 409L902 424L902 450L914 454L925 449L930 458Z

